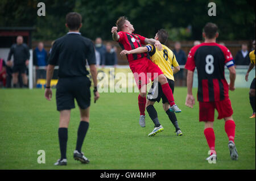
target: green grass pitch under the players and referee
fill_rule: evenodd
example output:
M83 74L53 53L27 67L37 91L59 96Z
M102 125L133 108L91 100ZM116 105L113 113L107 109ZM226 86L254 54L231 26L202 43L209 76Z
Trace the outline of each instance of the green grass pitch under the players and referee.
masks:
M71 111L68 128L68 165L53 166L60 157L57 129L59 112L44 90L0 90L0 169L255 169L255 119L249 119L249 89L230 92L236 122L238 161L232 161L224 120L214 122L217 163L209 164L204 124L199 123L199 106L185 107L186 88L176 87L176 104L182 113L177 119L183 136L155 104L164 132L148 137L153 123L146 112L146 127L138 123L138 93L102 93L90 107L90 126L82 151L90 159L82 165L73 159L79 126L79 108ZM196 95L196 89L193 89ZM217 112L215 114L217 117ZM46 151L46 163L37 162L38 150Z

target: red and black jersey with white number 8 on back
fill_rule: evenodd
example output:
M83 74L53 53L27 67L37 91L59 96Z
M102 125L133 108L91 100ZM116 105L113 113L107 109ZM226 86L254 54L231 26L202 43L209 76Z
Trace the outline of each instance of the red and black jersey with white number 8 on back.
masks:
M217 43L201 43L193 47L185 69L197 69L199 102L213 102L229 98L229 86L225 79L225 65L234 66L229 49Z

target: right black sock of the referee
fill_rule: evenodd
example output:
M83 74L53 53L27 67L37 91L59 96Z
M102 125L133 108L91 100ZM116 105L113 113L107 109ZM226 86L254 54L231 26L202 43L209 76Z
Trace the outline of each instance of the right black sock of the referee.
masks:
M86 121L80 121L79 129L77 131L76 150L81 153L82 143L84 142L85 135L88 131L89 123Z

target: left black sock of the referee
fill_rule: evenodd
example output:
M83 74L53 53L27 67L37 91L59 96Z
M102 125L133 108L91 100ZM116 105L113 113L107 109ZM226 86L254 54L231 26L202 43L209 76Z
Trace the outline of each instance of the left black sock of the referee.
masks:
M59 142L60 142L60 159L67 159L67 141L68 141L68 128L59 128Z

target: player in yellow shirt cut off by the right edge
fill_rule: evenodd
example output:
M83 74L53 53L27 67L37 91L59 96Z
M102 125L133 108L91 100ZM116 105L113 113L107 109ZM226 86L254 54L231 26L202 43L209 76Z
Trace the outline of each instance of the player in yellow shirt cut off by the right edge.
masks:
M253 41L253 48L254 48L254 50L251 51L250 54L249 54L251 63L249 65L249 68L248 68L248 70L246 72L246 75L245 75L246 82L248 81L248 76L249 76L250 71L255 66L255 40ZM251 115L250 118L254 118L255 117L255 77L253 79L253 82L251 82L249 98L250 98L251 108L253 108L253 115Z

